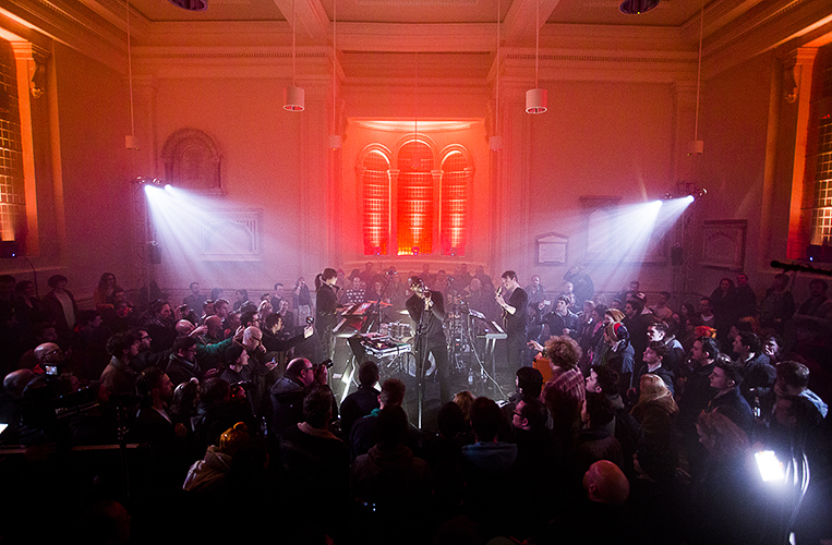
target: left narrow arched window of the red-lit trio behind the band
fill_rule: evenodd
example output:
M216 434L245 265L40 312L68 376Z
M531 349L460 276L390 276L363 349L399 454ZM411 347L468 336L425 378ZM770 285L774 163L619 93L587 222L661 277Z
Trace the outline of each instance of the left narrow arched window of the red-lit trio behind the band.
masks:
M364 255L384 255L390 238L390 161L383 152L373 149L362 166Z

